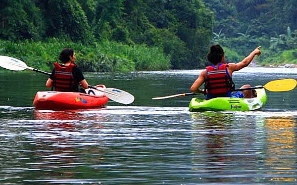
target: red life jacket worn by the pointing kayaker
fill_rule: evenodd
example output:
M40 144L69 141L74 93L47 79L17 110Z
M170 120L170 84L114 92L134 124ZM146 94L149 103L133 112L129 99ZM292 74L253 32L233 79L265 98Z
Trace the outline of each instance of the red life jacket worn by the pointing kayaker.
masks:
M231 93L235 89L235 84L230 77L227 70L228 64L221 63L216 66L206 67L206 81L205 81L205 91L210 94L227 94Z

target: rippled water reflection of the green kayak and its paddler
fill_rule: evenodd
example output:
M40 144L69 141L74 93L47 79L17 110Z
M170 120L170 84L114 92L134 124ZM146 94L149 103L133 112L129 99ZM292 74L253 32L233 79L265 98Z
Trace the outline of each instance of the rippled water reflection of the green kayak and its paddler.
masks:
M234 124L234 115L205 112L191 114L191 117L195 120L193 130L203 131L193 136L198 149L196 155L199 156L193 162L201 167L194 170L202 172L201 175L207 182L229 182L226 171L230 168L230 156L226 155L226 151L231 144L230 125Z

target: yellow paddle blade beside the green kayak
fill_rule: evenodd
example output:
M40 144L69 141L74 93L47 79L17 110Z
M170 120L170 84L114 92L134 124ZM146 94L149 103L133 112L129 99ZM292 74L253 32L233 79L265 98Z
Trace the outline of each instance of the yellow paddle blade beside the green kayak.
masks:
M273 80L265 84L263 87L272 92L283 92L294 90L297 85L296 79Z

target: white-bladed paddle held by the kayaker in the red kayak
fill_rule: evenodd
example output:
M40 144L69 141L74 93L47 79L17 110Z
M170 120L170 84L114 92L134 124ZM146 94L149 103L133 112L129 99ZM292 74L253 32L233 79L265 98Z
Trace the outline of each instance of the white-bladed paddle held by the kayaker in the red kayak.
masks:
M0 67L9 69L9 70L13 70L13 71L22 71L22 70L28 69L31 71L35 71L37 73L50 75L50 73L29 67L25 64L25 62L23 62L19 59L16 59L16 58L9 57L9 56L0 55ZM106 96L109 99L111 99L115 102L118 102L118 103L131 104L134 101L134 96L132 94L127 93L122 90L119 90L119 89L115 89L115 88L101 89L101 88L96 88L94 86L89 86L89 88L96 89L100 92L106 93Z

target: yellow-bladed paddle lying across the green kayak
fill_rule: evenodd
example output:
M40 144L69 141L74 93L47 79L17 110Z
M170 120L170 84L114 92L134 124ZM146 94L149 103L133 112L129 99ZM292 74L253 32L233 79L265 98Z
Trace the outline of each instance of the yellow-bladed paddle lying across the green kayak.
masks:
M264 86L257 86L257 87L250 87L250 88L242 88L242 89L235 89L234 91L245 91L245 90L254 90L254 89L266 89L271 92L285 92L294 90L297 86L296 79L280 79L280 80L273 80L265 84ZM202 91L201 91L202 92ZM162 97L153 97L151 99L167 99L171 97L180 97L180 96L188 96L188 95L195 95L195 93L181 93L181 94L174 94Z

